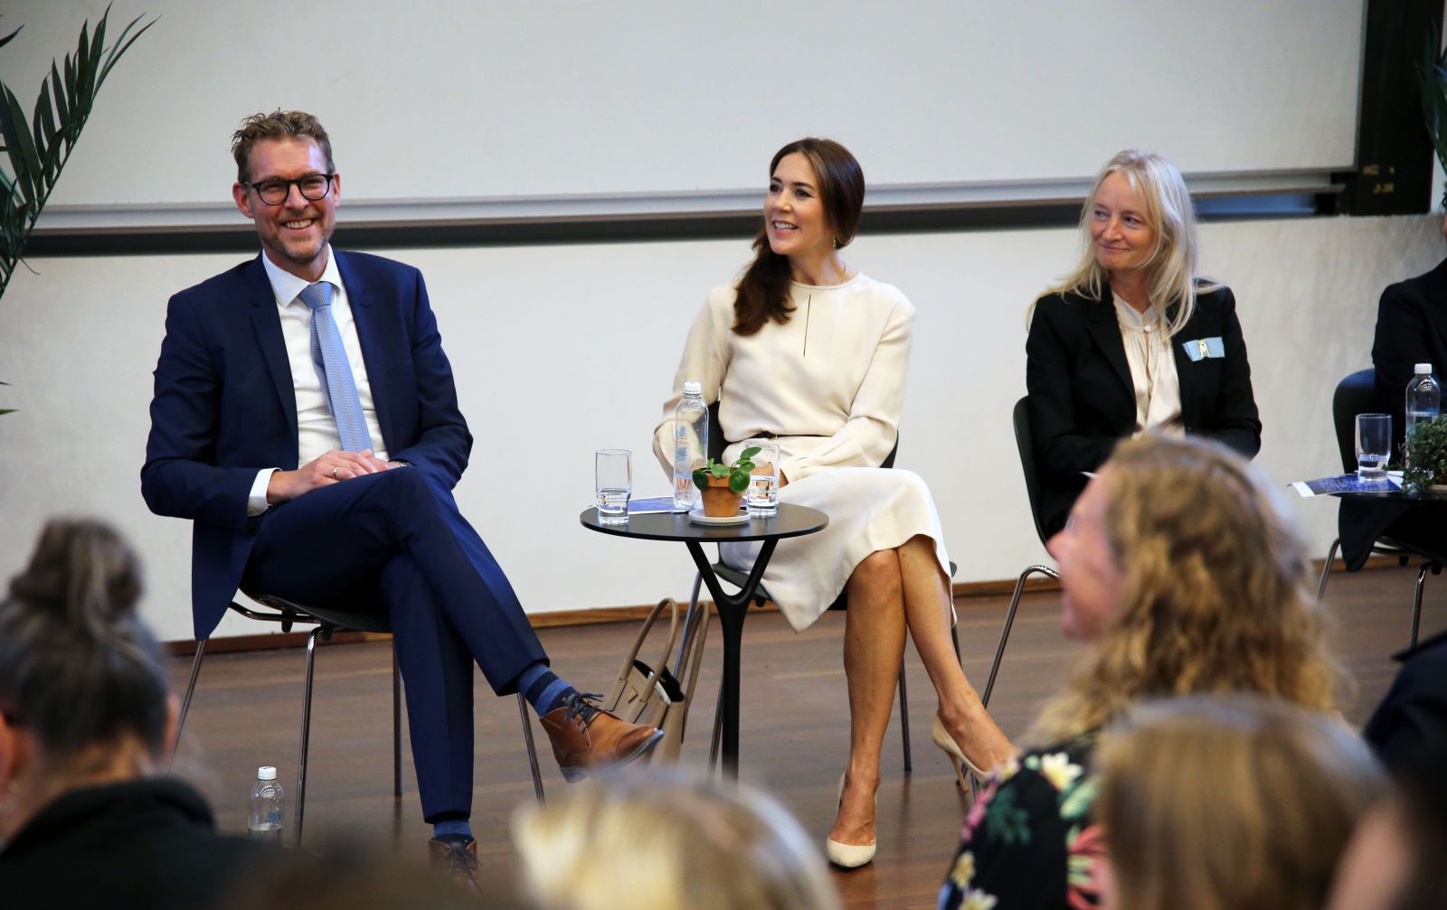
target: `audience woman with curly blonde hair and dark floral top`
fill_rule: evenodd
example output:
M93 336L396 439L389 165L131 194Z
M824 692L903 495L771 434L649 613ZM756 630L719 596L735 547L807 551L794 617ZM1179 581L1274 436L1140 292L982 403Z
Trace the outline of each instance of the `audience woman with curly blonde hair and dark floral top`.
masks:
M1336 664L1302 537L1285 498L1223 446L1152 434L1120 443L1049 550L1061 625L1085 654L1037 719L1036 748L971 809L942 907L1097 898L1095 742L1133 705L1220 693L1333 705Z

